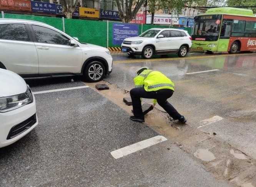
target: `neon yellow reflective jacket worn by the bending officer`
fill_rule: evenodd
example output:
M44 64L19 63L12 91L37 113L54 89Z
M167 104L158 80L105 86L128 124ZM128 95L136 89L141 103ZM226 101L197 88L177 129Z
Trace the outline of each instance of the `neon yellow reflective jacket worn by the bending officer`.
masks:
M135 87L143 87L146 91L158 91L171 89L174 91L174 83L163 73L154 70L144 70L133 79Z

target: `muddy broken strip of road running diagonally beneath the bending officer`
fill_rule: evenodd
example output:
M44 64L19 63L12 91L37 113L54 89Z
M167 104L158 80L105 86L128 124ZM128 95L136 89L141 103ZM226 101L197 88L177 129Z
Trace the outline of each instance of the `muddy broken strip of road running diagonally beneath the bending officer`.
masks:
M130 115L132 114L132 106L127 106L123 102L123 98L129 96L129 91L118 88L118 86L109 84L106 81L99 83L107 84L110 89L97 91L95 89L96 83L86 83L86 85L114 102ZM252 113L253 111L250 112L250 117L255 115ZM248 114L248 111L234 112L230 115L235 117L235 115L241 116L241 114L245 113ZM248 116L247 114L245 116ZM170 121L165 112L156 108L145 116L145 120L149 127L175 142L174 145L178 146L185 153L200 159L201 163L216 178L226 180L235 187L254 187L253 184L256 181L256 161L243 152L219 140L216 136L193 128L189 122L187 125L180 125Z

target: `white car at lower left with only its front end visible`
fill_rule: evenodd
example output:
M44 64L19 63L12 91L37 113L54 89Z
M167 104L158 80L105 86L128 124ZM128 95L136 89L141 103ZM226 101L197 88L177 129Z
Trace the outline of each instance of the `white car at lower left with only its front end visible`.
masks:
M29 133L38 124L35 98L16 73L0 68L0 148Z

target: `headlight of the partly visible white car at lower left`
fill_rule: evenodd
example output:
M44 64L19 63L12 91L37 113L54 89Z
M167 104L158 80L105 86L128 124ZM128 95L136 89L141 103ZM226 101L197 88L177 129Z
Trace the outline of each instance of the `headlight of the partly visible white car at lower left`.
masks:
M31 102L33 102L33 95L27 86L27 91L23 94L0 98L0 112L12 111Z

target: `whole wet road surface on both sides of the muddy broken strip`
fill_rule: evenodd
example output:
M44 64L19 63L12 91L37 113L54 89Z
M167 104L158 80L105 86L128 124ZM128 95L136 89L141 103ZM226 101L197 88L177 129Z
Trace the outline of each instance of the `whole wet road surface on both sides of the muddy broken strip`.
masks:
M175 82L170 102L200 130L256 157L256 54L205 55L152 60L113 55L105 80L133 88L135 70L159 70ZM124 62L125 61L125 62ZM199 72L218 69L214 72ZM28 81L34 92L84 86L79 77ZM167 140L114 159L110 152L158 135L91 88L36 94L39 124L13 145L0 148L1 187L226 187L196 158Z

